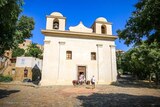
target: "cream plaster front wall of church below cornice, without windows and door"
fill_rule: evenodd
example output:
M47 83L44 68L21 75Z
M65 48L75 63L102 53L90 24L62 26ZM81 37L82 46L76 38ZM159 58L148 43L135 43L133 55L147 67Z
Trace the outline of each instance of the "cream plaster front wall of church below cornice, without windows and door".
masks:
M87 80L95 75L98 84L109 84L112 81L110 45L115 45L114 41L51 36L45 36L45 41L48 42L44 44L41 85L71 85L72 80L77 79L78 66L86 66ZM59 42L65 44L60 45ZM97 44L103 46L97 49ZM67 50L72 51L72 60L66 60ZM91 60L91 52L96 52L97 57L97 51L99 62L98 59Z

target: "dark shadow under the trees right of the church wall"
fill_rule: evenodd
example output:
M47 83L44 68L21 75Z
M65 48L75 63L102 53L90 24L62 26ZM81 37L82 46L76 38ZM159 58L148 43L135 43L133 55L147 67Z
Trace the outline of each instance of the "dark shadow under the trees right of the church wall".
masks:
M131 76L122 76L117 79L117 82L112 83L111 85L120 86L120 87L134 87L134 88L157 88L160 87L155 85L155 83L144 82L142 80L136 80Z

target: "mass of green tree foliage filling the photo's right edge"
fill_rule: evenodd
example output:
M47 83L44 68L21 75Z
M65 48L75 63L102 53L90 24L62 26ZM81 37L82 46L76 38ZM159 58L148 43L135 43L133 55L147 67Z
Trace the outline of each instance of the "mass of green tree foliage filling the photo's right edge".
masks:
M135 44L126 53L126 70L139 78L160 74L160 0L139 0L123 30L117 30L125 44ZM145 42L143 41L145 39Z

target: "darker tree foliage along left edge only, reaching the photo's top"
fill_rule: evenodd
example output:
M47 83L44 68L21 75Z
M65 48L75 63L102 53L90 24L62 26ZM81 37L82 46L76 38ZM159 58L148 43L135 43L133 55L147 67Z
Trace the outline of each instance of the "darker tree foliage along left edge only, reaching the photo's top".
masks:
M0 1L0 55L11 48L21 6L22 0Z

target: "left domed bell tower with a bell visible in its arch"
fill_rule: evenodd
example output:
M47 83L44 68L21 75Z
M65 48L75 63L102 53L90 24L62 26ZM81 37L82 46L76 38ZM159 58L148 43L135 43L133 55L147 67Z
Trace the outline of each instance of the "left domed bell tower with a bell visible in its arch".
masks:
M53 12L47 16L47 30L65 30L66 18L59 12Z

